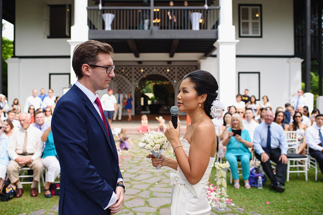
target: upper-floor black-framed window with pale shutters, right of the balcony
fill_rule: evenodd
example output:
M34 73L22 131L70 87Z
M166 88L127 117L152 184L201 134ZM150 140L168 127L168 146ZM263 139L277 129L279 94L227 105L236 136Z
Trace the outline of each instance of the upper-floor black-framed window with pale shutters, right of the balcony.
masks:
M239 5L239 37L262 37L261 5Z

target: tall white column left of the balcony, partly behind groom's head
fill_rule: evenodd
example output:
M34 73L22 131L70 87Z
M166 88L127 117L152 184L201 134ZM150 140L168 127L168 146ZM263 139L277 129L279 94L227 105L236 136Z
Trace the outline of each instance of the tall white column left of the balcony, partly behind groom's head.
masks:
M89 35L86 7L87 0L74 0L74 25L71 26L71 39L67 41L71 46L71 84L74 84L77 80L72 67L74 48L88 40Z

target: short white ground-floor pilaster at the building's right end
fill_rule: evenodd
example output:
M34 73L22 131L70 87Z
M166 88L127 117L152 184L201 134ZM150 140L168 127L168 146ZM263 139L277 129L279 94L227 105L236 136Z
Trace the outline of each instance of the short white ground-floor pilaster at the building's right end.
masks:
M289 95L297 94L302 89L302 62L303 59L293 57L288 59L289 63Z

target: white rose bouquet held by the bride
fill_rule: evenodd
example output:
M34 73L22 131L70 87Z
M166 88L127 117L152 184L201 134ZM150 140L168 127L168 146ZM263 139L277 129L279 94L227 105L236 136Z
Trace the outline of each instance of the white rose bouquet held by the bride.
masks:
M160 159L161 152L170 148L171 144L164 133L151 131L150 133L144 134L144 137L140 140L138 147L150 151L155 158ZM160 168L161 166L156 167L157 170Z

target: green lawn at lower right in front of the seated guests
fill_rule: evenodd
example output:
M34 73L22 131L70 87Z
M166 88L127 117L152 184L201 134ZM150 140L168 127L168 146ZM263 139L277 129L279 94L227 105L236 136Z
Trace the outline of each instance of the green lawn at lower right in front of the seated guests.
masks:
M214 181L216 170L213 168L210 182ZM264 184L263 189L251 187L244 188L242 176L240 176L240 189L233 188L230 184L230 174L227 174L228 195L232 202L245 209L245 214L254 211L260 214L322 214L323 213L323 175L317 173L315 181L314 169L308 172L308 181L300 173L290 174L289 182L286 182L285 192L279 193L269 187L270 180ZM270 202L267 204L266 201ZM233 211L237 213L237 211ZM217 212L219 213L219 212ZM239 212L238 212L239 213ZM221 214L221 213L220 213Z

